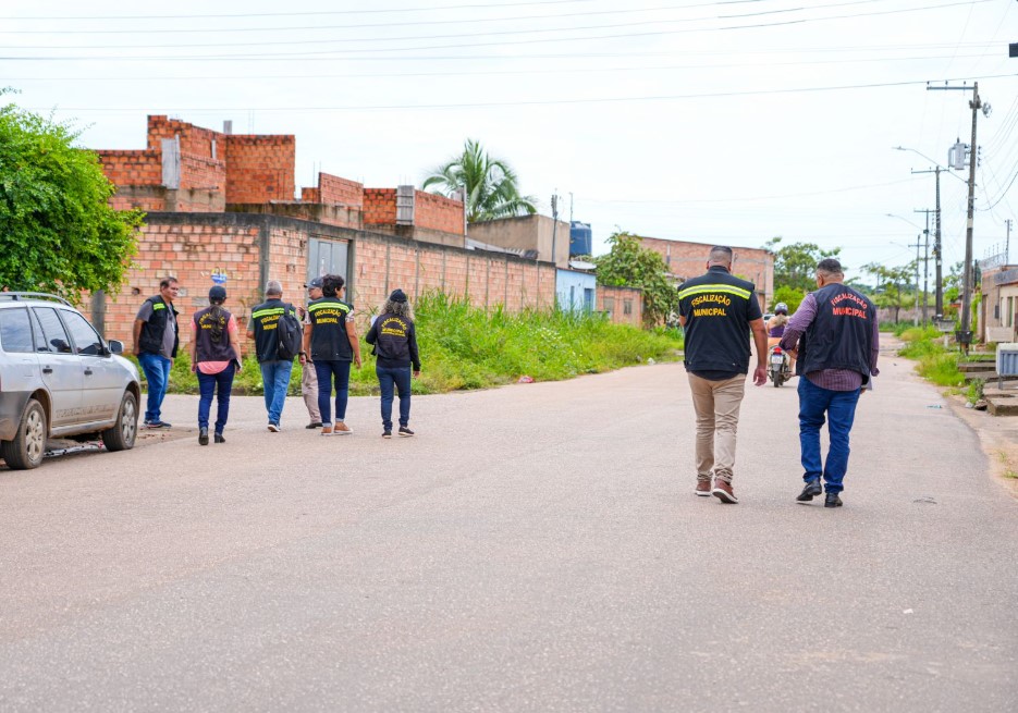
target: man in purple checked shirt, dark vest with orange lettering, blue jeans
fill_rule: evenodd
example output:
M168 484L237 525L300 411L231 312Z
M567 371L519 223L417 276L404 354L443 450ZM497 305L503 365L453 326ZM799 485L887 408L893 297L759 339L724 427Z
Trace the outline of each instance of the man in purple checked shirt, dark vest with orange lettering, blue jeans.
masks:
M785 327L781 346L797 359L799 374L799 444L806 487L796 499L808 503L823 492L824 507L841 507L842 480L848 470L848 434L862 389L872 389L879 371L880 332L876 307L844 284L842 263L834 258L817 266L817 291L806 295ZM820 452L820 429L826 416L831 447Z

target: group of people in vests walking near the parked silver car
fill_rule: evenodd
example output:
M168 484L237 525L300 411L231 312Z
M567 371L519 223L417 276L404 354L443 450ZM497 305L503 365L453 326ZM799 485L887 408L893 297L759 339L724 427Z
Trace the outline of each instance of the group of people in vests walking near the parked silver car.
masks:
M247 337L254 341L255 356L261 370L268 430L278 433L290 390L294 360L303 366L301 390L308 409L308 429L321 429L322 435L353 433L346 425L352 366L360 368L360 341L353 317L354 307L344 300L345 280L327 274L307 285L306 306L283 302L279 281L270 280L265 287L265 302L252 309ZM180 348L180 312L173 303L180 286L175 278L164 278L159 294L142 305L134 322L134 354L148 381L145 426L170 428L162 419L170 368ZM234 377L242 368L240 328L236 318L223 306L226 290L216 285L209 290L209 306L195 312L191 321L191 365L198 378L198 443L209 443L209 418L213 397L217 401L212 439L224 443L223 430L230 415L230 395ZM299 352L285 354L281 335L290 323L301 330ZM381 391L382 437L393 433L392 406L400 398L398 430L401 437L412 437L410 380L420 376L413 310L402 290L389 295L381 314L372 320L366 335L376 355L376 373ZM332 401L333 391L335 401ZM334 406L334 415L333 415Z

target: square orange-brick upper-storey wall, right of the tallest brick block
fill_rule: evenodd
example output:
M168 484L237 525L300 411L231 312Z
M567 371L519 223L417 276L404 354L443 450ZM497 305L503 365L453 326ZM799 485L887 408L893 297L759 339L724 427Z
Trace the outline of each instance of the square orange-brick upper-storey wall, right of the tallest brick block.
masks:
M296 139L293 136L229 135L226 202L294 200Z

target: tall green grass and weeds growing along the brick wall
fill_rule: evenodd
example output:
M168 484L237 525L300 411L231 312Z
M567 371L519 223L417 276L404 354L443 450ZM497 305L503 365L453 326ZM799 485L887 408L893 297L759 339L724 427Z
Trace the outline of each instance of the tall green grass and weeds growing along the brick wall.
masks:
M527 376L535 381L571 379L621 367L678 358L683 340L676 330L640 330L612 324L600 315L557 310L510 315L486 311L442 294L422 296L415 305L420 347L420 379L414 393L487 389ZM364 367L351 372L351 395L378 393L375 357L363 340ZM234 382L236 393L261 394L261 372L254 357ZM294 365L291 394L301 393L301 365ZM198 393L191 360L182 354L173 365L171 393Z

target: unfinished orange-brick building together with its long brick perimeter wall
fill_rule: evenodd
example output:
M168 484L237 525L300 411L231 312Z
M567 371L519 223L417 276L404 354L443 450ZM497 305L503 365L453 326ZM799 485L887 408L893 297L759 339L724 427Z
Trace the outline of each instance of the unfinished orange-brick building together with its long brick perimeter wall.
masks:
M364 321L397 286L412 298L441 290L511 311L554 304L552 263L466 249L459 201L328 173L296 198L295 148L289 135L234 135L149 116L146 148L99 151L118 187L112 205L147 212L124 290L94 296L100 330L130 344L138 306L167 274L181 281L177 309L187 317L207 306L213 279L246 321L269 279L299 302L304 284L326 272L346 276Z

